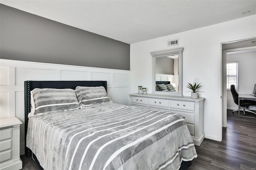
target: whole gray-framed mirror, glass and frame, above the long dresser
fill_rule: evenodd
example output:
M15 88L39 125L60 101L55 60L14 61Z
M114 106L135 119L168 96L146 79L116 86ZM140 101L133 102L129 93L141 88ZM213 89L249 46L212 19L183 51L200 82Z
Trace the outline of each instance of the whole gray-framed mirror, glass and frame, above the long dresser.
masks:
M183 47L150 52L152 55L152 93L182 96Z

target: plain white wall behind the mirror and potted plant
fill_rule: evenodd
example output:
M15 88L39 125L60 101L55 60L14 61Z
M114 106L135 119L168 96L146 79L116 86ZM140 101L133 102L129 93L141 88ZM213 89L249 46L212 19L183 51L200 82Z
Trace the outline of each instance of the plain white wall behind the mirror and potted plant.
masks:
M174 23L175 24L175 23ZM190 96L186 83L199 78L203 87L200 97L205 97L205 137L221 140L221 43L256 37L256 15L224 22L204 28L172 34L130 45L131 93L138 85L152 92L151 51L184 47L183 51L183 95ZM179 45L168 47L168 40L179 39Z

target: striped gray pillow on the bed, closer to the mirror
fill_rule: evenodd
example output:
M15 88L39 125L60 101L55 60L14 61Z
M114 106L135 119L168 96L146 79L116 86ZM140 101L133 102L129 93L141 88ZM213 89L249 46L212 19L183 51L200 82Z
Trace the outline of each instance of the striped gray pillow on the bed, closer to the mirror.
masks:
M79 103L90 106L97 103L108 102L108 96L105 88L100 87L81 87L75 89Z

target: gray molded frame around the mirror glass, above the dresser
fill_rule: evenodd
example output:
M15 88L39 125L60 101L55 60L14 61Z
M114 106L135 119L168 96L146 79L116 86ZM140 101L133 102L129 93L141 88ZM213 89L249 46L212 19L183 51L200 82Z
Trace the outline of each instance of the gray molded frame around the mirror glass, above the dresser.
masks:
M150 52L152 55L152 73L153 73L153 83L152 83L152 93L158 95L171 95L171 96L182 96L182 52L184 48L173 48L173 49L165 49L161 51L153 51ZM156 57L166 57L169 55L178 55L178 77L179 77L179 84L178 84L178 92L165 92L165 91L156 91Z

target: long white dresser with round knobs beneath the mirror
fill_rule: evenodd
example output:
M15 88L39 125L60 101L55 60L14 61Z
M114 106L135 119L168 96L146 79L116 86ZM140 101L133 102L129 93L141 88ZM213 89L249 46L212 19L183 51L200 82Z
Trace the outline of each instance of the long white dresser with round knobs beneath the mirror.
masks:
M191 97L154 95L154 94L130 94L129 105L146 107L150 109L172 111L182 115L194 144L200 146L204 140L204 99Z

